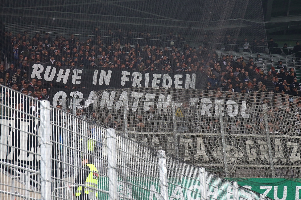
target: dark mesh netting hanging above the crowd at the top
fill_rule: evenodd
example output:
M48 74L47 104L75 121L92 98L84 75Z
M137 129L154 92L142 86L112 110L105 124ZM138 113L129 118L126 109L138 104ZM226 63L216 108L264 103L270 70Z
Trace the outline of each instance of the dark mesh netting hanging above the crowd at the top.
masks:
M163 47L175 41L181 49L185 43L219 49L221 45L215 43L244 45L245 37L250 42L253 38L266 40L260 0L9 1L2 2L0 9L4 29L13 35L26 31L29 40L36 32L41 33L41 39L45 33L52 39L76 34L82 42L101 36L98 39L104 43L118 42L119 38L122 45L138 42Z

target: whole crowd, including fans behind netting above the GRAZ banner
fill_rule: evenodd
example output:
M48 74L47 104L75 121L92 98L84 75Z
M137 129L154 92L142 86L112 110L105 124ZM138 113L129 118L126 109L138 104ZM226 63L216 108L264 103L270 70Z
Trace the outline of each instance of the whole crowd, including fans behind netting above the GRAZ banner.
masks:
M113 35L113 33L110 34ZM129 38L128 35L127 38ZM287 68L279 60L277 66L271 67L270 71L265 72L259 67L259 63L263 63L266 60L266 58L261 57L260 49L258 49L256 58L244 59L243 57L233 58L233 55L222 55L220 60L215 48L212 49L206 46L206 41L203 41L202 46L199 46L198 49L185 44L180 51L176 47L181 46L180 44L174 43L174 45L170 46L169 43L162 49L159 44L147 44L147 40L141 40L140 44L142 46L140 44L132 46L134 41L127 40L127 38L112 36L111 39L105 41L99 36L80 41L74 35L70 35L68 39L63 36L52 39L49 37L49 34L45 34L42 38L37 33L34 37L29 38L26 32L23 35L17 34L15 37L12 37L11 32L9 32L7 38L2 40L0 48L10 58L11 64L7 70L4 70L4 66L0 65L0 84L9 86L25 95L31 95L39 100L48 99L48 88L53 85L47 84L43 80L29 79L27 72L30 62L51 62L52 65L57 67L79 66L93 69L131 69L141 73L150 71L158 73L193 72L203 77L203 89L205 89L203 90L204 92L198 94L199 96L196 96L197 98L206 96L212 99L213 102L216 98L232 100L235 98L240 99L246 95L251 101L248 102L250 104L267 102L267 104L275 105L276 107L269 110L268 113L271 115L271 118L278 114L280 107L288 105L301 107L299 98L301 93L298 91L301 90L301 86L296 78L294 68ZM3 41L6 41L4 45ZM298 45L299 42L297 43ZM6 51L6 48L4 48L6 46L10 47L9 51ZM209 48L212 50L209 50ZM228 93L219 90L227 91ZM254 93L249 93L253 91ZM266 93L262 94L255 91ZM299 97L296 97L295 100L287 98L287 101L284 101L283 95L277 95L276 93ZM187 97L189 95L191 94L187 94ZM268 98L269 96L275 98ZM4 100L2 99L2 101ZM7 98L5 101L11 100ZM10 102L10 105L13 104L16 110L32 106L22 99L21 102ZM63 109L62 105L57 105L56 107ZM183 116L177 116L177 132L187 132L188 130L198 132L201 130L211 133L219 129L219 121L215 117L200 116L199 121L196 122L194 109L196 108L189 105L189 99L183 102L180 107ZM8 111L5 112L10 113ZM259 115L260 111L254 113L251 116L253 122L242 121L241 118L227 121L226 124L229 124L227 131L235 133L238 130L243 130L244 133L264 134L265 127L261 121L262 116ZM296 110L287 111L287 113L291 114L287 119L294 119L293 113L296 113ZM125 126L124 120L122 117L119 117L122 116L122 113L107 114L103 112L97 114L95 110L90 112L90 110L77 109L76 116L93 123L100 123L103 127L123 130ZM280 117L278 116L279 119L281 119ZM129 123L127 126L134 131L169 131L172 129L171 123L173 119L171 119L171 115L167 116L163 113L158 115L155 107L151 107L145 113L128 113L128 119ZM254 121L254 119L256 120ZM278 120L273 121L273 124L275 126L271 126L271 129L273 129L271 132L284 131L287 127L291 127L292 132L294 132L294 126L290 126L288 121L280 120L279 122ZM300 129L296 130L298 132Z

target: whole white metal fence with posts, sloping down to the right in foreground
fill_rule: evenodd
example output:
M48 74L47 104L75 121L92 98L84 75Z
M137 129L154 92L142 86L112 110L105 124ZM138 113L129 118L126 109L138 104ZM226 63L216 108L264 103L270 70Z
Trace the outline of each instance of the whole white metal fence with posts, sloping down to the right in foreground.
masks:
M48 101L1 94L0 199L267 199Z

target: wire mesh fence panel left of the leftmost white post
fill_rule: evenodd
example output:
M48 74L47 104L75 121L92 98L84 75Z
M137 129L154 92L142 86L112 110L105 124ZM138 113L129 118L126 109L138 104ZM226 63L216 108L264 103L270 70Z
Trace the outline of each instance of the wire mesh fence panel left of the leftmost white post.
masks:
M40 199L39 102L1 87L0 199Z

